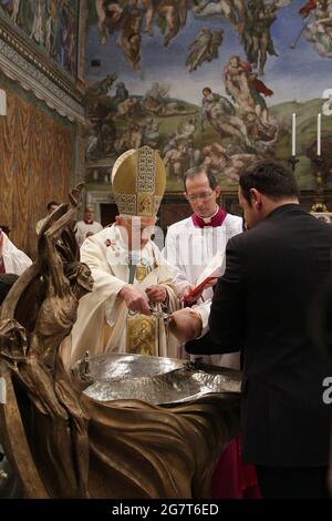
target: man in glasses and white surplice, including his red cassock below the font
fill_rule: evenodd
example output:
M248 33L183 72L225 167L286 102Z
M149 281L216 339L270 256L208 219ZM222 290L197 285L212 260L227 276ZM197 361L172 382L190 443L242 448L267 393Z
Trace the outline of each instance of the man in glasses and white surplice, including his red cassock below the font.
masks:
M205 167L194 167L186 173L184 196L191 206L193 215L169 226L163 251L167 262L176 268L174 282L185 300L190 300L190 289L211 258L218 253L224 254L228 239L242 232L242 218L228 214L218 205L220 192L215 176ZM218 275L224 269L225 266L220 266ZM216 282L217 278L211 283ZM189 315L199 309L205 328L212 295L212 287L206 287L201 294L204 303L200 299L193 310L187 309ZM179 353L183 355L181 347ZM239 353L212 355L205 361L240 368ZM222 452L211 484L214 499L260 497L255 468L241 463L239 438Z

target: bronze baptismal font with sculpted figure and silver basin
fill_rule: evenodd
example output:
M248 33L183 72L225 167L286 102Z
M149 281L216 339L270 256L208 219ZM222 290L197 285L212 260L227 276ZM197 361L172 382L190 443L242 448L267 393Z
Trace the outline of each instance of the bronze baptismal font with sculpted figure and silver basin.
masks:
M37 260L1 307L4 451L27 498L208 498L238 430L237 371L107 354L65 367L93 286L73 235L81 190L49 217Z

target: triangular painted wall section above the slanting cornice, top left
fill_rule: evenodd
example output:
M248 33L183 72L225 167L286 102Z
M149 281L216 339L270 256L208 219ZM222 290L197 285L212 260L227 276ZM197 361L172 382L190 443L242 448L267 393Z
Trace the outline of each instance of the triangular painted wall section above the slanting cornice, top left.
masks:
M79 0L0 0L0 16L76 75Z

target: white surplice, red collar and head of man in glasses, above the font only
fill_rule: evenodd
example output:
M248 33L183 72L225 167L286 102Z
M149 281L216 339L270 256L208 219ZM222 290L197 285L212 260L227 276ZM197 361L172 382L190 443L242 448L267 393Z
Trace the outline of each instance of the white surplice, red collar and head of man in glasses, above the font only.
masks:
M207 170L198 166L186 173L184 196L191 206L193 215L169 226L163 255L176 268L174 282L181 296L188 300L190 288L203 270L217 254L224 258L227 241L242 232L241 217L228 214L218 206L219 195L220 187ZM225 265L220 264L216 277L221 276L224 270ZM212 288L204 289L201 297L195 309L200 314L205 330ZM239 357L212 355L211 359L216 365L237 367Z

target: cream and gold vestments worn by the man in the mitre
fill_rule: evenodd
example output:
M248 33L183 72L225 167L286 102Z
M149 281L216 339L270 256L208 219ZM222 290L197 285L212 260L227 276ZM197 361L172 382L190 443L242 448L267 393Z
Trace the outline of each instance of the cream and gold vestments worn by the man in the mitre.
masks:
M142 300L146 302L147 307L149 305L146 288L160 285L165 289L165 305L156 306L162 311L160 316L136 314L134 309L127 307L125 298L120 295L129 280L127 260L129 252L115 224L89 237L81 248L81 260L89 265L94 287L91 294L80 300L77 320L72 331L72 362L82 358L86 350L91 355L112 351L177 356L177 343L167 334L163 311L175 311L179 308L179 300L162 254L149 239L141 251L142 257L133 280L137 300L141 293ZM146 272L144 278L142 272ZM131 327L131 323L135 320L136 325L133 324L134 327ZM111 328L106 344L105 325Z

